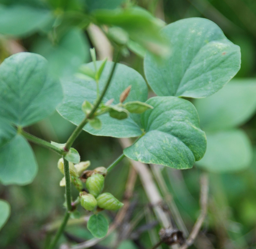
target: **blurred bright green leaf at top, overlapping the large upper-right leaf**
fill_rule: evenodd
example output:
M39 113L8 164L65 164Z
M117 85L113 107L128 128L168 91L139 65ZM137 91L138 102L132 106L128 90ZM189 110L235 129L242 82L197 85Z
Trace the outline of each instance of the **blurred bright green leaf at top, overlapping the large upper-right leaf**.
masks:
M117 26L124 29L130 38L156 55L169 51L160 29L164 22L140 7L97 10L92 13L98 24Z

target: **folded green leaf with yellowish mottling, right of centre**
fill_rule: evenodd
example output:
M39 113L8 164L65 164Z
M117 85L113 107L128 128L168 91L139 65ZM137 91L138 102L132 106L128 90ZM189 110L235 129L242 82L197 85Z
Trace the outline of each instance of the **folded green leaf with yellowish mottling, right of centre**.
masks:
M196 108L178 97L153 97L146 103L154 107L141 114L146 134L124 154L144 163L177 169L193 167L206 151L206 137L199 128Z

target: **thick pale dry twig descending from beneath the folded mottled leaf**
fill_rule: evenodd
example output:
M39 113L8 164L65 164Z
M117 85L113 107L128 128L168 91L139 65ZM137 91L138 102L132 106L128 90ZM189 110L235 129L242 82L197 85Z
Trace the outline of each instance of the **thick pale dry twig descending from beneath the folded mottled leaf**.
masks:
M121 138L120 143L123 149L132 145L132 142L128 138ZM138 175L140 176L140 180L148 196L150 204L153 207L154 213L156 214L158 221L161 223L161 225L164 228L173 228L169 216L164 212L161 206L161 203L163 202L163 200L156 187L156 184L153 181L152 174L148 169L147 165L138 161L133 161L133 160L130 160L130 161L132 163L132 166L135 168ZM179 248L179 246L172 245L171 248L177 249Z

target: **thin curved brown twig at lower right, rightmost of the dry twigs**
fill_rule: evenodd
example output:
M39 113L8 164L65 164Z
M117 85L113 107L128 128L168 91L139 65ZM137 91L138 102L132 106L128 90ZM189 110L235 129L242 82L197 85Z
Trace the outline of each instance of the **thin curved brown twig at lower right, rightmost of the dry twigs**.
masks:
M201 176L201 196L200 196L201 213L196 220L196 223L186 241L186 244L183 245L180 249L187 249L190 245L192 245L196 239L196 236L199 233L199 230L207 214L208 192L209 192L208 175L207 173L203 173Z

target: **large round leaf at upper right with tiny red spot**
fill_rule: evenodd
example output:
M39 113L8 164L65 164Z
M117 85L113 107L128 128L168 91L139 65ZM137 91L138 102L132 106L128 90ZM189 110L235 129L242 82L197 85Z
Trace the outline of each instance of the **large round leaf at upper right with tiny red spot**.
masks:
M183 19L162 29L172 50L160 61L149 53L144 70L158 96L200 98L221 89L240 69L239 46L203 18Z

